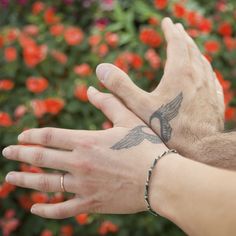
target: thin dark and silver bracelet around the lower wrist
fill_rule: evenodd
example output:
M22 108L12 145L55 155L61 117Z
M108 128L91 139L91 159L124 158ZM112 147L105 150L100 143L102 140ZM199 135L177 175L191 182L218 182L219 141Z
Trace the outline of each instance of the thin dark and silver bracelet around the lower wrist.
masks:
M152 207L150 205L150 201L149 201L149 183L150 183L150 179L151 179L151 176L152 176L152 171L153 171L154 167L156 166L157 162L162 157L164 157L164 156L166 156L166 155L168 155L170 153L177 153L177 151L174 150L174 149L170 149L168 151L163 152L160 156L158 156L157 158L154 159L154 162L153 162L152 166L148 170L147 181L146 181L146 184L145 184L144 200L146 202L148 211L150 213L152 213L154 216L158 216L158 214L152 209Z

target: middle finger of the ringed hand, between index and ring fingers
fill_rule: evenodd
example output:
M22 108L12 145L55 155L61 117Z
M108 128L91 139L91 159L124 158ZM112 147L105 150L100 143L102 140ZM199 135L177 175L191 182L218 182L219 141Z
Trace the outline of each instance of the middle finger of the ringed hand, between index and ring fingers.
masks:
M56 170L69 171L73 166L72 152L44 147L12 145L3 150L3 155L10 160Z

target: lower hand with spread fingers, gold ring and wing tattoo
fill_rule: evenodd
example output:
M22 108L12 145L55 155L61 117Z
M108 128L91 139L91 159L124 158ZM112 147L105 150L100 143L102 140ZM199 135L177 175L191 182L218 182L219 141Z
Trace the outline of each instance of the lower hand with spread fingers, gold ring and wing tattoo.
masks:
M20 143L3 150L10 160L66 172L65 190L75 197L57 204L35 204L32 213L66 218L79 213L145 211L144 185L154 158L167 150L159 137L114 96L94 88L92 104L114 124L103 131L31 129ZM41 145L41 146L32 146ZM6 181L45 192L61 191L61 174L10 172Z

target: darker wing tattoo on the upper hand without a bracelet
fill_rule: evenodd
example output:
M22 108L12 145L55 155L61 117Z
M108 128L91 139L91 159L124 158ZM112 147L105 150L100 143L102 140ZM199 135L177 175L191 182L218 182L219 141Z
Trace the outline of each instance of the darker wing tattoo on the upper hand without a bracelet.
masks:
M171 139L172 128L169 122L178 115L182 101L183 93L181 92L172 101L162 105L149 119L150 126L153 119L157 118L160 120L161 138L164 142L168 142Z

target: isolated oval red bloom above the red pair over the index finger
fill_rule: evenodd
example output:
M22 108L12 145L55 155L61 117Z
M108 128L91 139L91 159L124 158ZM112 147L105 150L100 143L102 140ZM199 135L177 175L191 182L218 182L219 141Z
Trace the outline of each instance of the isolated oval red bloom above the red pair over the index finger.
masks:
M26 87L32 93L42 93L48 87L48 80L43 77L29 77Z

